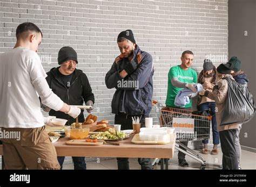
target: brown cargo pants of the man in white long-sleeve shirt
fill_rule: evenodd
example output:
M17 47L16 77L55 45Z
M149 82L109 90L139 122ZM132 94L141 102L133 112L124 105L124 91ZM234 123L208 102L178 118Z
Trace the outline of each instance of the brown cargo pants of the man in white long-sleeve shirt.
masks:
M5 169L59 169L55 147L45 127L1 128L2 132L20 132L19 138L3 141ZM17 133L18 134L18 133Z

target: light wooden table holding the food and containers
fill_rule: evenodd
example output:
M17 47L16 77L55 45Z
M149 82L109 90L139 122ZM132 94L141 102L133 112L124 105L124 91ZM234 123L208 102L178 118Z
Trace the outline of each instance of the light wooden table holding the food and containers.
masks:
M85 157L129 157L129 158L161 158L161 169L164 163L167 165L169 158L173 157L176 135L171 135L170 143L165 145L139 145L132 143L133 136L119 141L120 146L104 144L101 146L70 146L65 142L69 138L60 138L53 143L58 156L85 156ZM3 147L0 145L0 155L3 155Z

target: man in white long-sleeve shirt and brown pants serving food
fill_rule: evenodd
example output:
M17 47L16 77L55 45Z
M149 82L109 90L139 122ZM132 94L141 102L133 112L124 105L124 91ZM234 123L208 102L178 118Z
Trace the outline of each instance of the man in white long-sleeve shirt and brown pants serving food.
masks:
M0 131L6 169L59 169L44 124L41 102L76 118L80 109L63 103L49 88L37 55L42 32L32 23L17 27L13 49L0 55ZM9 136L7 136L9 134Z

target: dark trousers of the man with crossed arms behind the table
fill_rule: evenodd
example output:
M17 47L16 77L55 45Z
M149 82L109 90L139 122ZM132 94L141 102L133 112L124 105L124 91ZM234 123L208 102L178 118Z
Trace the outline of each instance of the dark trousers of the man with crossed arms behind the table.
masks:
M142 116L140 119L140 127L145 127L145 116ZM114 124L121 125L121 130L132 130L132 116L126 116L125 113L118 113L114 116ZM152 164L150 159L138 158L138 162L142 169L152 169ZM117 167L118 169L130 169L129 158L117 158Z

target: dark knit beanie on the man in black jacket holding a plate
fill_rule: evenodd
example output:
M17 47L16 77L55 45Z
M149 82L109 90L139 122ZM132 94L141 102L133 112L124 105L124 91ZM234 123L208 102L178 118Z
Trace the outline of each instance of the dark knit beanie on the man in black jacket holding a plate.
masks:
M62 47L58 53L58 64L62 64L67 60L75 60L77 63L77 52L69 46Z

